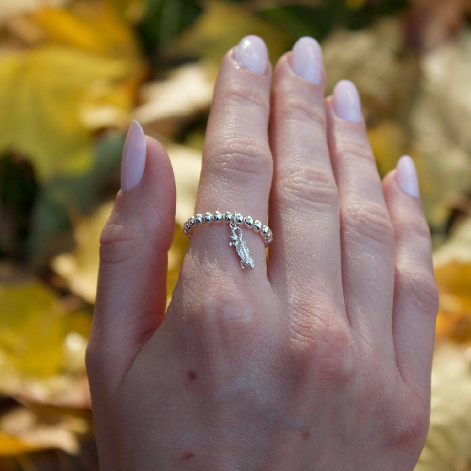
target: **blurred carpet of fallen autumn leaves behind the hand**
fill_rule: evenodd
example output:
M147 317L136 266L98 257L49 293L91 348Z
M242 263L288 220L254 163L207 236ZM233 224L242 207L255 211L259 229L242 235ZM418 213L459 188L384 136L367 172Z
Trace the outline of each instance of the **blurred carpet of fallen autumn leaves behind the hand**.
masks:
M471 470L471 6L467 0L0 0L0 469L97 470L84 351L98 236L132 119L177 181L167 302L187 250L217 66L323 46L360 91L380 173L417 165L440 292L419 471Z

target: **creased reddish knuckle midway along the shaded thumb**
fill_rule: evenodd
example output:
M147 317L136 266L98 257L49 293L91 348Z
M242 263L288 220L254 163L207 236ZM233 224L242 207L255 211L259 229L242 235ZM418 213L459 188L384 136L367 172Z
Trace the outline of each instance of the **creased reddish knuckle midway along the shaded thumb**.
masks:
M100 235L99 260L101 263L119 264L130 260L138 252L141 244L124 225L106 222Z

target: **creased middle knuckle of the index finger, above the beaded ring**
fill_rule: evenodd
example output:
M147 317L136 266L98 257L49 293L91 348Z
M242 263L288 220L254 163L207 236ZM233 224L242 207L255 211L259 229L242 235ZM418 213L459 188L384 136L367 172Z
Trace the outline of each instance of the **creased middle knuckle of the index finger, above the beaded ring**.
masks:
M271 174L273 165L268 145L255 139L227 138L211 148L208 157L211 172L239 183Z

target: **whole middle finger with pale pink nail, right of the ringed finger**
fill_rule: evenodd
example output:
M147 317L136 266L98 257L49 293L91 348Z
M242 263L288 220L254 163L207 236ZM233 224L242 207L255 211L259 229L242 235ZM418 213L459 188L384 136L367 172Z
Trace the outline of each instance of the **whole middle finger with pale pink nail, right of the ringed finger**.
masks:
M309 310L335 306L344 320L338 191L330 163L322 52L301 38L276 66L270 119L274 178L268 275ZM302 308L302 306L300 306Z

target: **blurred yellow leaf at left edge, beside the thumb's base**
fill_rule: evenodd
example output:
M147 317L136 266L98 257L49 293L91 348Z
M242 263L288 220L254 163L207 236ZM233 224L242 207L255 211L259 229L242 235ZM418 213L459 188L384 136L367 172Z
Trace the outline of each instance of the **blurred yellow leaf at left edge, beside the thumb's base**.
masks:
M84 357L90 314L35 280L1 284L0 306L0 392L88 407Z

